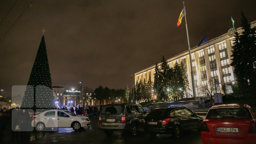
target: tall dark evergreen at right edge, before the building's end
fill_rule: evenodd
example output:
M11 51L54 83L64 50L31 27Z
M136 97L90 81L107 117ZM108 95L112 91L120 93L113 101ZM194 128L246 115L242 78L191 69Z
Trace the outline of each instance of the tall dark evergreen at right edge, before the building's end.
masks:
M241 22L243 32L235 33L231 66L240 90L246 90L256 86L256 27L251 28L242 12Z

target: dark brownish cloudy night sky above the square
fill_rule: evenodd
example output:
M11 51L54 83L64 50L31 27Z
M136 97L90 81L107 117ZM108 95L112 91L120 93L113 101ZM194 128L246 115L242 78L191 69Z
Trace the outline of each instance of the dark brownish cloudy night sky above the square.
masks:
M0 21L15 1L0 1ZM0 25L0 95L6 97L13 85L27 84L43 27L53 85L66 88L81 80L92 89L131 88L132 70L188 49L185 17L177 27L182 0L33 0L14 23L31 1L18 0ZM256 20L255 0L189 0L185 6L191 48L206 32L209 39L228 32L231 16L238 28L240 11Z

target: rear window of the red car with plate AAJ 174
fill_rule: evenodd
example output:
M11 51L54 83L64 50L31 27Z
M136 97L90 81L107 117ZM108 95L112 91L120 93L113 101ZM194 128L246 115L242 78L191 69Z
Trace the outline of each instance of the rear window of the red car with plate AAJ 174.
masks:
M251 118L246 108L225 107L211 109L206 118Z

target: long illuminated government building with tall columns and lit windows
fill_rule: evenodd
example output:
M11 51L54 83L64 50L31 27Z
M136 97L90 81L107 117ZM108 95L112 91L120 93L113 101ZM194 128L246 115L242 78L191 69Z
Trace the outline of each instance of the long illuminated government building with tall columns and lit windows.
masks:
M251 22L251 27L255 26L256 21ZM236 31L241 33L242 28L239 27L236 29ZM191 49L192 68L197 96L203 96L200 94L200 92L198 92L197 88L200 85L206 85L209 78L215 78L215 82L221 82L221 79L223 79L227 85L236 83L236 79L233 73L234 68L230 66L233 42L234 34L228 32L217 38L209 40L209 42L203 43L202 45L193 47ZM193 90L188 50L167 59L170 67L174 66L176 61L178 63L183 62L185 64L188 81L190 83L190 89ZM161 63L158 63L159 67L160 64ZM148 80L149 76L151 76L151 80L154 81L154 70L155 65L152 65L149 68L135 73L135 84L137 81L143 80L144 78ZM227 87L226 92L233 92L231 86ZM190 92L190 94L193 94L193 92Z

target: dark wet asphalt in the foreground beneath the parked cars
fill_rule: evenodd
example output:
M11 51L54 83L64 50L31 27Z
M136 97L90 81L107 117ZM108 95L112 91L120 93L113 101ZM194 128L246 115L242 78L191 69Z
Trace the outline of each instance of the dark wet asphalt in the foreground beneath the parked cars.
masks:
M91 117L91 126L74 131L72 128L59 128L56 132L19 132L12 135L11 123L8 122L4 138L0 143L83 143L83 144L159 144L159 143L172 143L172 144L201 144L201 133L197 130L185 132L180 138L173 138L169 135L156 135L152 137L150 134L145 133L143 129L139 129L139 134L136 137L130 135L129 132L113 133L112 137L107 137L103 130L97 128L98 118Z

